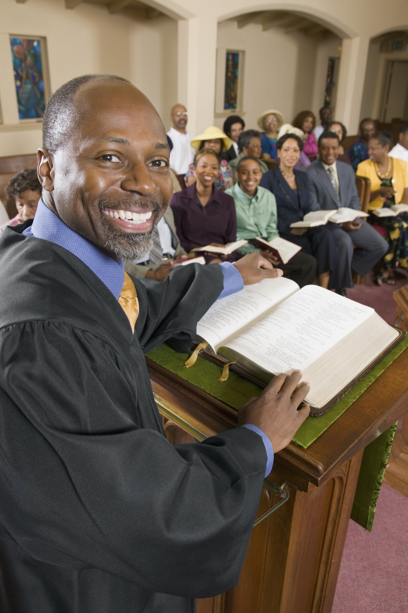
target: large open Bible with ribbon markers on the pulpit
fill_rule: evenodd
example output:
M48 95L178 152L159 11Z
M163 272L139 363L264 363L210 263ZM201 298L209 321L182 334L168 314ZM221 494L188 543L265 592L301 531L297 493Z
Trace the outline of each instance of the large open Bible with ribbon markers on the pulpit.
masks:
M283 277L217 300L197 324L200 355L259 387L302 371L310 413L328 411L404 337L374 309L315 285ZM232 364L234 362L234 364Z

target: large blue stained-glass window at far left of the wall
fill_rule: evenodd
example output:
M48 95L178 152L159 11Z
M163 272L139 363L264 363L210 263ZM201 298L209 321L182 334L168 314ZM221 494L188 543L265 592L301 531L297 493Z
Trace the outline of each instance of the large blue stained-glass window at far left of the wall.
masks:
M10 36L10 45L18 116L20 120L40 118L48 89L44 85L44 44L39 37Z

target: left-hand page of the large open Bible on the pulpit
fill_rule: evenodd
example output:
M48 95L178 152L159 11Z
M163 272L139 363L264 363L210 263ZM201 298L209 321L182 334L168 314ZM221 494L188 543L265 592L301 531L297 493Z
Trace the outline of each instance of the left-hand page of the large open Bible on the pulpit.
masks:
M198 322L197 335L217 352L218 347L298 290L297 283L283 276L245 285L241 291L216 300Z

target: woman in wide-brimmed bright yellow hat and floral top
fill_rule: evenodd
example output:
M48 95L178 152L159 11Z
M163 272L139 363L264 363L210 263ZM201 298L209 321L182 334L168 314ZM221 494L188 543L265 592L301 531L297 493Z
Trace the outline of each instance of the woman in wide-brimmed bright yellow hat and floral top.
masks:
M231 145L231 139L229 139L220 128L216 128L215 126L210 126L210 128L205 129L202 134L199 134L191 141L191 147L197 151L201 151L204 148L211 149L217 153L218 158L221 155L221 151L228 151ZM194 173L194 162L188 167L184 180L188 186L195 183L196 175ZM217 180L215 180L214 187L220 189L220 191L225 191L225 189L231 188L233 185L234 181L231 167L225 159L221 159L220 170L218 171L218 177Z

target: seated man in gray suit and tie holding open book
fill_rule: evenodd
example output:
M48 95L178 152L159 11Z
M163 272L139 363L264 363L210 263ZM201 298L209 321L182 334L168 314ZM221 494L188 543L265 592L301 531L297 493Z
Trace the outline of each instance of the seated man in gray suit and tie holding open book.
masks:
M310 183L310 204L318 210L340 207L360 210L355 174L349 164L337 162L339 137L325 131L318 140L319 156L306 168ZM387 253L388 243L366 221L355 219L344 224L328 223L339 248L339 271L336 292L346 295L345 288L353 287L352 272L361 276ZM356 249L354 249L354 245Z

